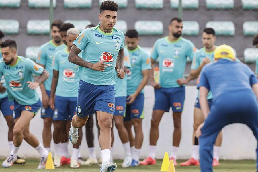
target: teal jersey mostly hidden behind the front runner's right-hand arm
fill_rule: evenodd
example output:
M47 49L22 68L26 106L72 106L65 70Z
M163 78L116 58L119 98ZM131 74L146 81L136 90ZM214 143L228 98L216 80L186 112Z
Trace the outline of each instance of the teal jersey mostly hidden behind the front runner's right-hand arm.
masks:
M124 67L131 67L131 62L130 62L130 56L129 56L129 52L126 48L124 48ZM117 73L115 72L115 75L117 75ZM127 88L127 74L125 74L124 79L120 79L117 76L115 76L116 78L116 84L115 84L115 90L116 90L116 94L115 97L126 97L126 88Z

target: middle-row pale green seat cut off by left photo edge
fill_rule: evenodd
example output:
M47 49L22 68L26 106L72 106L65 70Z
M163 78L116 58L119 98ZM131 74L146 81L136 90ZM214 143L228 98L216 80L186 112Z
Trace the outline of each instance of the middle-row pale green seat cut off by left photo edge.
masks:
M0 20L0 30L5 34L18 34L19 21L17 20Z

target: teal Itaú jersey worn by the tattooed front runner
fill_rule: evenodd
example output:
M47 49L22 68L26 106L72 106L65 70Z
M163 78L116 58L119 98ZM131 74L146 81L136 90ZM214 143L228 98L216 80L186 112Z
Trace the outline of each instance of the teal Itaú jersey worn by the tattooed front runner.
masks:
M116 58L119 50L124 47L123 32L112 29L107 34L100 30L99 26L84 29L73 42L82 51L82 58L87 62L97 63L105 60L105 71L79 67L78 76L83 81L94 85L115 84Z

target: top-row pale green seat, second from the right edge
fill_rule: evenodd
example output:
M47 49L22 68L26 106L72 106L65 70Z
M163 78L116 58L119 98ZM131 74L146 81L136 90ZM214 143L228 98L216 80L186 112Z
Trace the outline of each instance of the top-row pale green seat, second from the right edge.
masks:
M208 9L233 9L234 0L206 0Z

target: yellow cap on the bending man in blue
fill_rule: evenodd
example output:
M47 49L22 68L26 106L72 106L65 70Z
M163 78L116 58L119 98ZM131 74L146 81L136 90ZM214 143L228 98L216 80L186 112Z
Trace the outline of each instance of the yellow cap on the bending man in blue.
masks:
M231 58L235 60L234 49L226 44L220 45L214 51L214 58Z

